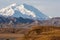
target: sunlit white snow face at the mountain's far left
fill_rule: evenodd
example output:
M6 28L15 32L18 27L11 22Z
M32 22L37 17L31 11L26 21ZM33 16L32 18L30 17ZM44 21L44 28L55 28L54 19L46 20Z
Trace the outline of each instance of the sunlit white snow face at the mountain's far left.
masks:
M16 4L12 4L6 8L2 8L0 10L0 15L2 16L11 16L14 14L14 10L12 9L12 7L16 6Z

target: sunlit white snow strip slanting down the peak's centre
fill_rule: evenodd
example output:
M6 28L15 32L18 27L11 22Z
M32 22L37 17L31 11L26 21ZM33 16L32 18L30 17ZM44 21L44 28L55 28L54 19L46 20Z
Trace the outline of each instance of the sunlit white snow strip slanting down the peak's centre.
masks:
M31 12L31 11L27 10L26 8L24 8L24 5L17 6L17 9L19 11L21 11L22 14L26 14L26 15L29 15L29 16L32 16L32 17L36 17L34 12Z

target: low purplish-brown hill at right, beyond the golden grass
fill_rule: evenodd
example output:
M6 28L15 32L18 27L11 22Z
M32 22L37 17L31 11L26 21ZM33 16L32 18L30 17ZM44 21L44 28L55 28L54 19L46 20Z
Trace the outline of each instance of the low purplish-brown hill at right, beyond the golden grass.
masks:
M45 20L42 22L42 25L45 26L60 26L60 17L53 17L49 20Z

